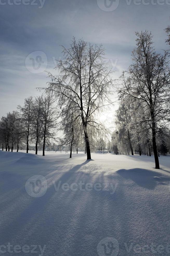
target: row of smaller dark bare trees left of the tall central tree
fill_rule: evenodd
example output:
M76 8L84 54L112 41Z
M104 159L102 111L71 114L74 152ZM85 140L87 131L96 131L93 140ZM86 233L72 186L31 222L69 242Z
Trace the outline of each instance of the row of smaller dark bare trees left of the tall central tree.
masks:
M54 138L56 115L52 95L46 94L33 98L28 97L24 106L20 105L17 111L8 113L0 121L0 142L2 150L11 152L26 144L27 153L29 143L35 143L37 154L38 144L42 145L45 155L45 145Z

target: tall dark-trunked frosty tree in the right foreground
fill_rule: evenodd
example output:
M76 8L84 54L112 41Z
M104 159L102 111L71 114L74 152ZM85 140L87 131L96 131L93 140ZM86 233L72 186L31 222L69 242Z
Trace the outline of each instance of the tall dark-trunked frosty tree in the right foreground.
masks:
M123 72L123 88L120 96L134 97L145 102L149 108L152 129L152 145L155 168L159 169L156 146L156 132L159 122L167 118L166 102L169 99L169 60L168 52L157 54L153 48L152 34L136 32L136 48L132 52L133 64L129 71Z

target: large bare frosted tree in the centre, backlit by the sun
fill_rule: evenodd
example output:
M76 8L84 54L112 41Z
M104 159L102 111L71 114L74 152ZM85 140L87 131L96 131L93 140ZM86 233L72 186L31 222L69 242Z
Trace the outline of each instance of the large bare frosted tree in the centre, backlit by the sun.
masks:
M63 55L64 59L56 66L60 75L49 73L48 90L55 93L61 108L70 101L73 103L74 111L81 117L87 159L91 159L90 136L104 129L97 114L110 103L110 71L104 62L102 45L91 45L73 38L69 49L63 47Z

